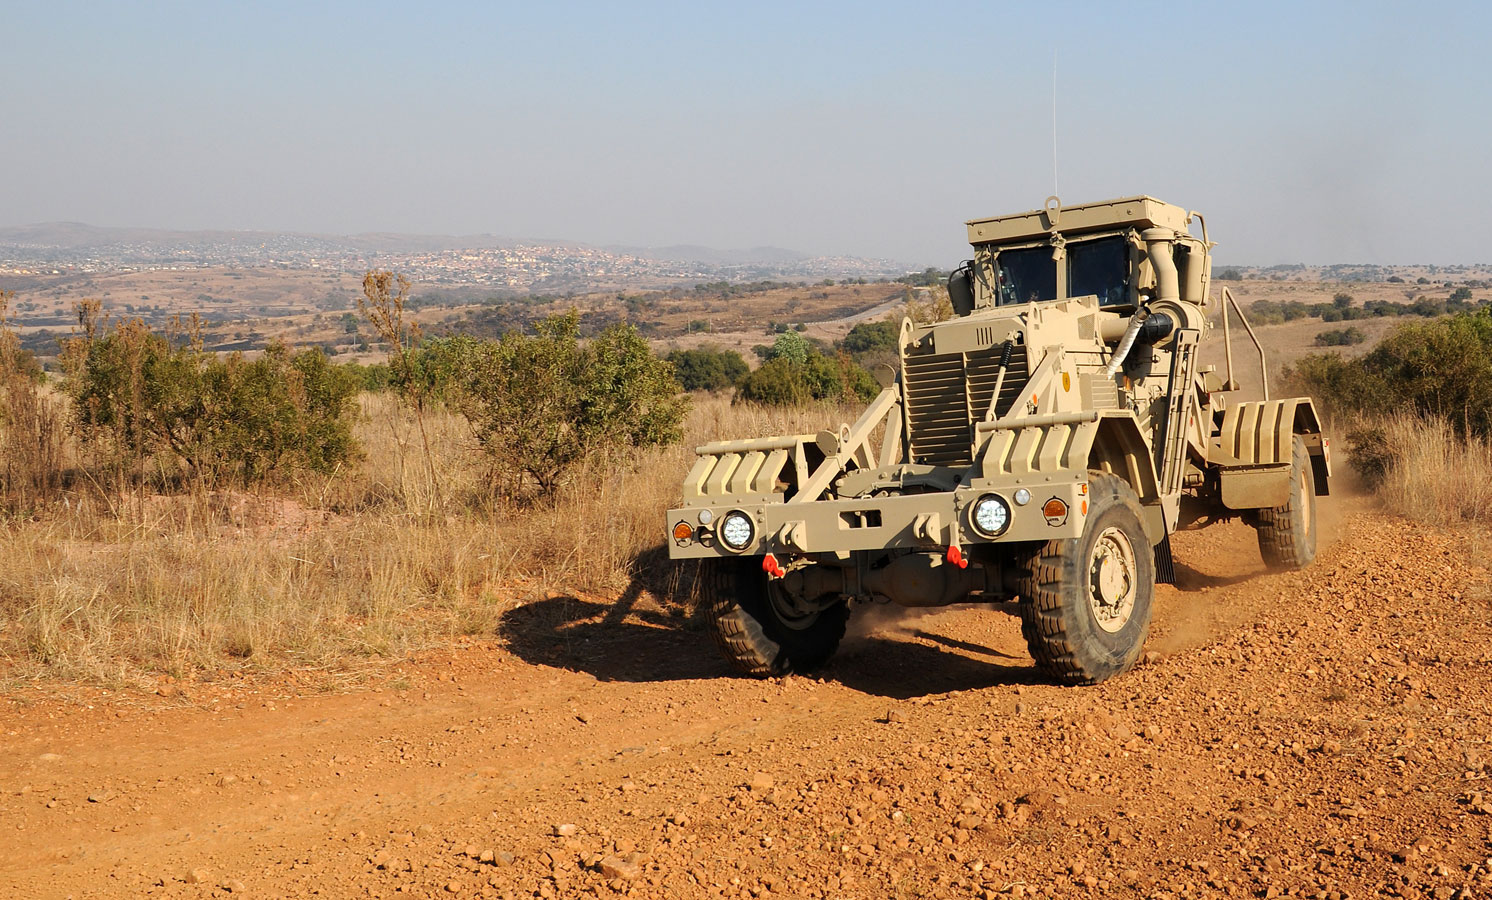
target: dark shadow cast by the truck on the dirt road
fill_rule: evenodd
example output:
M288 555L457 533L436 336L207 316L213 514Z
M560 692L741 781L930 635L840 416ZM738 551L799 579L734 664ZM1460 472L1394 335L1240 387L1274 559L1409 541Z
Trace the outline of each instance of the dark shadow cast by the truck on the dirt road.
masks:
M686 603L642 603L640 579L613 601L551 597L506 612L498 631L525 663L585 672L600 681L668 682L733 678L703 616ZM915 630L844 642L813 676L888 699L1035 684L1029 664L1000 651Z

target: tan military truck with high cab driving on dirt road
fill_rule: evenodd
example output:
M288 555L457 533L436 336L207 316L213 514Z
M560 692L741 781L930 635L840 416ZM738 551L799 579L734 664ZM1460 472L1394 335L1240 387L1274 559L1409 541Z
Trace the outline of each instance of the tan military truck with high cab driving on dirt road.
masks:
M745 672L824 663L852 604L1013 601L1046 673L1098 682L1141 652L1173 531L1241 516L1270 566L1316 555L1328 440L1310 400L1270 399L1267 370L1258 399L1231 396L1229 309L1247 322L1209 296L1198 213L1052 197L968 240L958 315L901 322L901 370L859 421L695 451L670 554L704 561ZM1223 373L1198 361L1209 313Z

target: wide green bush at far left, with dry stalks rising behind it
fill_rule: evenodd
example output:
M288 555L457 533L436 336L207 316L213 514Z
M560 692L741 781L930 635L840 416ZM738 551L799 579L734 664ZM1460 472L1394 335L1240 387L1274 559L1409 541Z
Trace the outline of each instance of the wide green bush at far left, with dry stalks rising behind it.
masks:
M85 449L131 475L260 484L331 472L358 454L355 376L319 349L272 345L219 358L140 321L107 328L97 306L63 354L63 391Z

